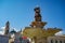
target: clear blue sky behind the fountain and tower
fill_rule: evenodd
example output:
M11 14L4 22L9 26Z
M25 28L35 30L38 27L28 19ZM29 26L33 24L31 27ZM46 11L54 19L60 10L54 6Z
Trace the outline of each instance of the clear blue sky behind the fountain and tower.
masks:
M34 20L34 8L41 9L42 22L46 28L62 28L65 30L64 0L0 0L0 27L10 22L10 27L21 29L28 27Z

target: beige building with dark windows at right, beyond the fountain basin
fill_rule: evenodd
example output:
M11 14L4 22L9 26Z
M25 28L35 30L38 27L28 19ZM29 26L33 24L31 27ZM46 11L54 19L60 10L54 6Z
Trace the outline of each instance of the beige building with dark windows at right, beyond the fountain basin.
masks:
M49 37L48 43L65 43L65 37L62 35Z

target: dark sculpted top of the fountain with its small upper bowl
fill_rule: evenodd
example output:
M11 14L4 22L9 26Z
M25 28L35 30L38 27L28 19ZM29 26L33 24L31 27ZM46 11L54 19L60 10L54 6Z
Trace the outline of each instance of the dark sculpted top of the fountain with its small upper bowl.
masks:
M36 28L43 28L43 26L47 23L41 20L40 8L37 6L34 9L34 11L35 11L35 22L32 22L30 26Z

